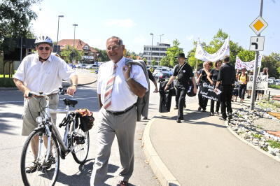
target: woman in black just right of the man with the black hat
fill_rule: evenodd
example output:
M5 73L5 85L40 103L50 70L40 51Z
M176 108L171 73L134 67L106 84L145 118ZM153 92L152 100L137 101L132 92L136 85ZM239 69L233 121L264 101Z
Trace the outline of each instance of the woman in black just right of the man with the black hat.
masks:
M200 76L197 79L197 82L200 83L200 86L202 86L202 83L204 83L204 82L209 83L209 80L207 79L207 76L209 75L212 66L213 66L212 62L204 62L203 63L203 69L200 72ZM202 96L202 94L198 94L198 103L200 105L198 107L198 110L202 110L202 112L205 112L206 107L207 107L207 103L208 103L208 99L204 98Z

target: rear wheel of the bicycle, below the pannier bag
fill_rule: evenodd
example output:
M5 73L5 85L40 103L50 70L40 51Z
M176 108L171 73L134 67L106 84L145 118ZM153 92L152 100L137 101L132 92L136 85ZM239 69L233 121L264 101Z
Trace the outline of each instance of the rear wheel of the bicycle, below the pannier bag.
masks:
M82 129L73 131L73 159L78 164L85 163L87 160L88 151L90 149L90 134Z

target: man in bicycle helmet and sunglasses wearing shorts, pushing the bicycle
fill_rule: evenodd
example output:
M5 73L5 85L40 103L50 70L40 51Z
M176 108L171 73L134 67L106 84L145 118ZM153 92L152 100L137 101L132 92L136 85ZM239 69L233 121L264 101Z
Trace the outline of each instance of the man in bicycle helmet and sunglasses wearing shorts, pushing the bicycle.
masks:
M36 39L35 45L38 53L27 55L22 60L13 79L15 85L23 92L25 97L22 115L22 136L28 136L37 127L36 117L40 115L41 107L45 105L43 98L32 97L29 99L29 92L49 93L61 87L62 79L71 79L73 84L68 88L67 94L73 95L76 92L78 83L78 76L70 66L63 59L51 54L51 38L40 36ZM59 101L58 94L50 94L49 99L50 108L56 109ZM51 117L52 122L55 123L56 115L51 114ZM31 141L31 148L34 158L36 158L38 140L35 138ZM36 165L34 164L34 166ZM30 167L30 170L34 170L34 167Z

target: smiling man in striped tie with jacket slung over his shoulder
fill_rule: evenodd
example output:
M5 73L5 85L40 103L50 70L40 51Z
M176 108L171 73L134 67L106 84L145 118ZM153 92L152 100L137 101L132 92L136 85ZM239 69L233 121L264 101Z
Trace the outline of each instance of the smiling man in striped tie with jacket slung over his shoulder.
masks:
M108 171L111 146L118 138L120 183L124 186L134 169L134 134L137 122L138 97L148 91L148 83L141 66L127 66L123 57L123 40L113 36L106 41L107 55L111 59L99 67L97 94L99 97L99 120L97 122L97 157L95 158L90 185L104 185Z

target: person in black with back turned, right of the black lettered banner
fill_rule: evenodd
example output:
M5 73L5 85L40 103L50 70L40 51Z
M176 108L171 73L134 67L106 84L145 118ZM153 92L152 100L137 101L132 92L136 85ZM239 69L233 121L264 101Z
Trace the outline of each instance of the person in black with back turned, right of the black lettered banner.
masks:
M229 120L232 119L232 88L235 83L235 67L233 67L230 63L230 57L225 57L224 64L221 66L221 69L218 73L218 79L215 87L215 91L217 91L218 86L221 90L221 112L222 117L221 120ZM225 112L225 108L227 109L227 113Z

